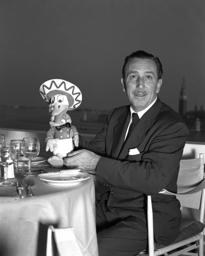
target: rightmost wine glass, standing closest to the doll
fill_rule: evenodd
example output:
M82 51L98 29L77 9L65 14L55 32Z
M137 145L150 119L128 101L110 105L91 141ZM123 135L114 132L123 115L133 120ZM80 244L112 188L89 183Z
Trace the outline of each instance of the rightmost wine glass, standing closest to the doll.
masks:
M28 158L28 172L22 172L24 176L34 176L38 174L36 172L31 172L31 159L36 157L40 151L40 144L38 138L23 138L21 145L21 152L23 156Z

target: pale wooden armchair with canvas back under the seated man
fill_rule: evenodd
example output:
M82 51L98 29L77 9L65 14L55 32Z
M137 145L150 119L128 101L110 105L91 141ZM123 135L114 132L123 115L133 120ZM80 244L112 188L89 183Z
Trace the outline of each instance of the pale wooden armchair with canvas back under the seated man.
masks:
M203 256L203 229L205 208L205 179L204 179L204 155L200 158L180 161L180 170L177 180L177 194L163 189L159 193L176 195L182 207L190 207L200 210L198 221L181 223L177 239L169 246L159 245L154 242L153 215L151 196L148 196L148 242L149 256L158 255L198 255ZM190 252L198 248L198 252ZM146 255L146 252L142 252ZM141 254L141 253L140 253ZM143 255L143 256L144 256Z

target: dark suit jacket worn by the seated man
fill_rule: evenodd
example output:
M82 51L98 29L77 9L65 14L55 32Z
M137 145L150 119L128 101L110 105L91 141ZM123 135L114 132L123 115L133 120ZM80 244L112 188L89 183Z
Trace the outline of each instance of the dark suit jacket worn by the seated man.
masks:
M80 148L101 155L98 182L110 186L107 207L119 217L146 219L147 196L152 195L154 236L159 244L175 240L181 219L175 196L158 194L163 188L177 192L179 162L189 134L183 119L159 98L141 117L124 143L130 106L113 109L89 144L80 138ZM137 148L140 154L129 155Z

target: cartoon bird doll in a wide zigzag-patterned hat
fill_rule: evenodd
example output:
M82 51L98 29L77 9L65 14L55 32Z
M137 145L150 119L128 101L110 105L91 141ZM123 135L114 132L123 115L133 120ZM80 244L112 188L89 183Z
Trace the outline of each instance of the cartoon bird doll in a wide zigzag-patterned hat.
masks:
M63 158L73 151L73 142L79 144L78 131L71 125L66 113L80 106L82 94L77 86L61 79L52 79L40 87L43 99L49 103L51 111L50 129L46 135L46 151L53 152L48 162L56 168L63 166ZM51 108L52 107L52 108Z

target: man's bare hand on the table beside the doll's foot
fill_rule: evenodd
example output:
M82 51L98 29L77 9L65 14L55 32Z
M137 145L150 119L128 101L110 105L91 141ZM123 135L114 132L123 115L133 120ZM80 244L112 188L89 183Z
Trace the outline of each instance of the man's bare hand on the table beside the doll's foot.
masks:
M68 157L64 159L64 165L67 167L76 166L84 171L91 171L96 169L100 157L89 150L80 149L69 153Z

